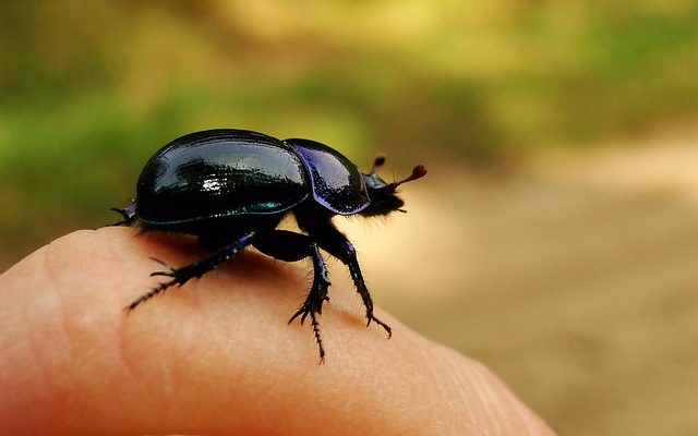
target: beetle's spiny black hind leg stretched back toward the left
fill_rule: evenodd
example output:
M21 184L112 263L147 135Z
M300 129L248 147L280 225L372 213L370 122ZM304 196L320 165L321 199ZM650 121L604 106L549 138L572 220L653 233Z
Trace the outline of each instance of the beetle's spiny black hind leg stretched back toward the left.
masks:
M171 288L173 286L182 286L186 283L191 279L201 278L206 272L217 268L224 262L228 261L230 257L234 256L240 250L244 249L246 245L252 243L252 239L254 237L254 232L249 232L238 238L234 242L226 245L224 249L217 251L213 255L205 257L201 261L194 262L192 264L185 265L180 268L173 268L168 266L163 261L156 259L155 257L151 257L153 261L163 265L166 270L154 271L151 272L151 277L155 276L164 276L171 277L171 280L164 281L158 286L151 289L148 292L133 300L131 304L125 307L127 312L133 311L139 304L152 299L158 293Z

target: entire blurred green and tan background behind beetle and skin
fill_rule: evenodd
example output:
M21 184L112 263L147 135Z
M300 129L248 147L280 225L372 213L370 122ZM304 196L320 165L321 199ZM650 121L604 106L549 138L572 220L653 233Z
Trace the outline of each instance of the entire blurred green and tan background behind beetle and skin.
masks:
M3 1L0 266L195 130L386 152L386 308L562 434L698 434L697 77L695 1Z

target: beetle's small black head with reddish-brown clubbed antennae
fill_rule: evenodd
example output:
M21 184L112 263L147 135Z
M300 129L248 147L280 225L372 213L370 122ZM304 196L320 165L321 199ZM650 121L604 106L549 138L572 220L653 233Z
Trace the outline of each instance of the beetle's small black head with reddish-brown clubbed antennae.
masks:
M426 168L422 165L418 165L412 169L412 173L402 180L397 182L387 183L376 174L376 169L385 164L385 156L378 156L373 161L373 168L368 174L363 174L363 182L369 191L369 198L371 204L365 209L361 210L360 215L364 217L373 217L376 215L388 215L392 211L399 210L405 205L405 202L397 196L397 186L402 183L410 182L412 180L421 179L426 174Z

